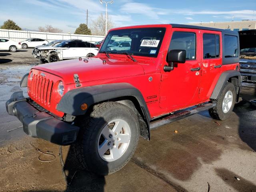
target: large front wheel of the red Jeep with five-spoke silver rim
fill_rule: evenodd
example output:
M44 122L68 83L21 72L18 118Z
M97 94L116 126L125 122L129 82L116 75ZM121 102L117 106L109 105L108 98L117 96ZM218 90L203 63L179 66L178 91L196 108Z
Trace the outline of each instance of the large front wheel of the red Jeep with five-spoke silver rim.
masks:
M134 111L117 102L93 107L76 122L81 132L74 145L78 159L90 172L112 174L124 167L136 149L139 123Z

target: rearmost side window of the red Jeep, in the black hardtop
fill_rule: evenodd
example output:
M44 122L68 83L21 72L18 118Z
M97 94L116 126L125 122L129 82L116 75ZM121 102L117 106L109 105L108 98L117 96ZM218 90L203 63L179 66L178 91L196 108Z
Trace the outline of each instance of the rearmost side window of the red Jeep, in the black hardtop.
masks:
M238 57L238 41L237 36L224 35L224 56Z

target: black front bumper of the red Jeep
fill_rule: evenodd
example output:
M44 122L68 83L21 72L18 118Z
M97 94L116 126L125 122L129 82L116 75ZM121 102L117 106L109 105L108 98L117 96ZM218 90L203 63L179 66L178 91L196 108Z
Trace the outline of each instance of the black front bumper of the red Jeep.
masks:
M22 91L12 94L6 102L6 111L22 122L23 130L28 136L58 145L70 145L76 141L79 127L58 120L46 112L40 112L27 102Z

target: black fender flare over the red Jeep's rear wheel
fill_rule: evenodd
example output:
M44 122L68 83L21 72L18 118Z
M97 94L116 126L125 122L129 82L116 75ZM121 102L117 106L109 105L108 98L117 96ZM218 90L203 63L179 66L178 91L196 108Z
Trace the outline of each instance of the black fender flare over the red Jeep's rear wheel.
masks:
M238 89L240 89L241 86L241 74L240 72L236 71L236 70L228 70L223 72L220 75L220 78L212 92L212 95L210 97L210 99L217 99L218 96L220 95L220 93L222 92L222 90L224 89L225 86L225 82L228 82L228 80L232 77L238 77ZM239 91L239 90L238 90ZM238 92L239 94L239 92Z

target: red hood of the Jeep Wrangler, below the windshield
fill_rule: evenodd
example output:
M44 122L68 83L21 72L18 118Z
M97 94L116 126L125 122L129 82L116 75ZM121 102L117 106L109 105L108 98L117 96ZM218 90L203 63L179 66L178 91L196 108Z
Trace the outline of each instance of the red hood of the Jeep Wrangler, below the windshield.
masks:
M103 60L106 61L106 64L104 64ZM42 64L33 68L60 76L65 84L74 83L74 74L78 74L80 82L144 74L144 68L140 65L140 62L133 62L129 58L103 59L92 57L82 59L81 61L73 59Z

